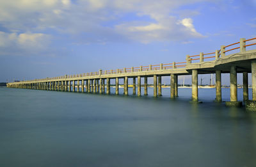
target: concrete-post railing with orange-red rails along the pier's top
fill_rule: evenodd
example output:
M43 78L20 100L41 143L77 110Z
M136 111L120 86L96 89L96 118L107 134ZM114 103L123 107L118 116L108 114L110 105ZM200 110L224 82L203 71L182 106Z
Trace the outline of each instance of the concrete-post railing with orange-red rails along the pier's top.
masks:
M250 44L246 45L246 42L250 42ZM254 42L254 43L253 43ZM239 46L237 46L239 45ZM45 79L33 79L30 81L45 81L45 80L55 80L55 79L67 79L67 78L77 78L77 77L88 77L88 76L101 76L101 75L111 75L111 74L123 74L127 72L143 72L150 70L168 70L175 68L186 68L186 65L191 64L192 61L198 60L200 63L204 61L214 61L218 60L218 58L225 56L226 52L233 51L236 49L240 49L240 52L245 52L246 47L250 47L252 45L256 45L256 38L250 38L246 40L245 38L241 38L239 42L229 45L221 45L221 49L216 50L215 52L204 53L200 52L200 54L196 54L193 56L186 56L186 61L184 62L173 62L159 65L147 65L140 67L130 67L130 68L118 68L116 70L99 70L99 72L87 72L84 74L76 74L76 75L65 75L60 77L47 77ZM229 49L230 47L233 47ZM226 50L228 48L228 50ZM205 57L205 56L208 57ZM214 56L212 56L214 55ZM197 62L198 63L198 62ZM28 81L27 81L28 82Z

